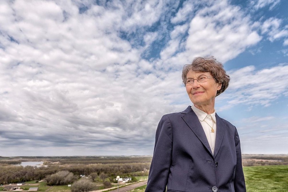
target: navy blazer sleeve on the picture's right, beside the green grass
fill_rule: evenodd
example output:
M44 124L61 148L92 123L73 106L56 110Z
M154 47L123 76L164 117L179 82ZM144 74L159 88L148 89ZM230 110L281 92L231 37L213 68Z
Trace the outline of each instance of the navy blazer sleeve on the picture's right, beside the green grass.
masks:
M244 178L244 173L243 173L243 168L242 168L240 139L239 139L237 129L235 133L235 146L236 146L237 164L236 164L235 177L234 177L234 189L235 189L235 192L245 192L246 191L245 178Z

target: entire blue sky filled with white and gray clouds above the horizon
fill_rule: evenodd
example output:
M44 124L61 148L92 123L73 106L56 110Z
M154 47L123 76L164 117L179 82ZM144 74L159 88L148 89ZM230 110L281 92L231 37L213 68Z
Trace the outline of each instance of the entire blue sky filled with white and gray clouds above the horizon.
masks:
M217 114L243 154L288 154L285 0L0 1L0 156L152 155L192 105L183 65L231 77Z

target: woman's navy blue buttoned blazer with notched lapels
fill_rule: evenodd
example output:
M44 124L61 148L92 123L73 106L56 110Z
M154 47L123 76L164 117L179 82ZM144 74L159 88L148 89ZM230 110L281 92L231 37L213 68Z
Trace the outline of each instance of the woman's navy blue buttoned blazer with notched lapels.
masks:
M246 191L236 127L217 114L216 122L213 155L191 106L164 115L156 131L145 192Z

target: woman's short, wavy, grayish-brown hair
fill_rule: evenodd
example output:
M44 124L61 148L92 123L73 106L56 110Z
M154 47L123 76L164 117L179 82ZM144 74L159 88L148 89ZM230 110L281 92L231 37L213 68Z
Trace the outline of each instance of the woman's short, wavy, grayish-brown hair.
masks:
M210 72L217 83L222 83L222 87L217 91L216 96L223 93L229 85L230 77L226 74L223 64L217 61L213 56L195 57L191 64L184 65L182 71L184 85L186 84L187 73L189 71Z

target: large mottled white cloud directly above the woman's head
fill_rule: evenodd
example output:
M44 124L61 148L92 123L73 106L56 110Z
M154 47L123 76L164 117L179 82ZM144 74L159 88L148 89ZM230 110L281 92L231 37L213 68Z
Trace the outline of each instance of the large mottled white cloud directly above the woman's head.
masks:
M215 1L191 20L184 55L193 58L213 54L222 62L228 61L261 40L252 28L253 22L240 7ZM179 53L175 60L182 57Z

